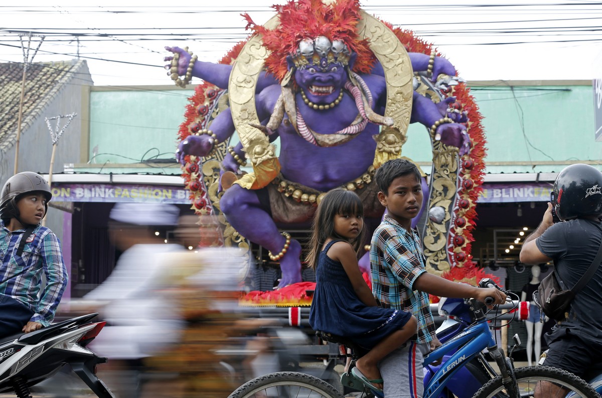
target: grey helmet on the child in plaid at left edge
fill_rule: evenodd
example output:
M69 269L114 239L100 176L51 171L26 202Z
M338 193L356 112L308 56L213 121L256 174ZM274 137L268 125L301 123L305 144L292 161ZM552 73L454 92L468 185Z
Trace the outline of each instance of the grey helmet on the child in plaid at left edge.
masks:
M0 218L5 223L11 218L16 218L20 222L17 201L19 201L22 195L29 192L42 192L46 197L44 214L48 213L48 202L52 198L50 185L48 185L48 182L40 174L33 173L33 171L23 171L10 177L4 183L4 187L2 187L2 193L0 194Z

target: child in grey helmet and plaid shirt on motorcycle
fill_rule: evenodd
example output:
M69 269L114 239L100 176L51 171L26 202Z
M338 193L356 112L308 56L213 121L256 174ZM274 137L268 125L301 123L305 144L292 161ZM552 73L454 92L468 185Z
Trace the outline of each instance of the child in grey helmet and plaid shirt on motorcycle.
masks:
M40 225L52 198L48 182L24 171L5 182L0 197L0 337L7 337L52 322L67 269L58 237Z

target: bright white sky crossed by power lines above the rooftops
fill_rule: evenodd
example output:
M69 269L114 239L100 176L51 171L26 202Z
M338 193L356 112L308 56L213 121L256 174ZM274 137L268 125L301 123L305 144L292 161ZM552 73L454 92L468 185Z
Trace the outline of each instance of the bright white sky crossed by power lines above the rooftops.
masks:
M203 2L205 4L193 7L0 5L0 14L4 17L0 28L0 47L7 49L2 52L2 58L17 61L17 34L31 31L46 36L40 57L45 56L47 60L64 56L158 68L163 62L155 64L148 55L154 53L152 57L157 57L156 54L162 54L162 58L167 55L163 46L178 41L181 42L179 46L190 45L199 57L203 54L205 60L209 57L219 59L250 34L244 29L242 17L236 14L247 12L261 22L260 18L274 14L270 7L273 2L284 3L284 0L266 1L265 5L253 2L253 5L237 6L205 5ZM602 2L515 1L504 4L494 0L491 3L483 1L482 4L441 1L439 4L398 2L394 5L387 4L385 0L363 2L373 3L362 5L367 13L381 16L394 26L411 29L417 37L423 37L437 47L545 43L581 47L602 41ZM228 1L222 3L228 4ZM49 15L60 18L60 26L52 26L57 18ZM36 21L36 17L40 16L39 22ZM118 27L110 25L113 20L119 20ZM30 26L25 25L28 22ZM476 47L476 51L480 48Z

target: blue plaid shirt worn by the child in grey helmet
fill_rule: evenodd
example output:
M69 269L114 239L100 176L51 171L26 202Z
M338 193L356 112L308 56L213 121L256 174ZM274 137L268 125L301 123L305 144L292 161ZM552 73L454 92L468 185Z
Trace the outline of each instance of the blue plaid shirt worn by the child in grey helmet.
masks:
M0 294L19 300L34 311L32 322L48 326L67 286L67 268L51 230L38 226L29 237L24 233L24 229L10 232L0 221ZM22 256L17 257L21 239L31 242L26 241ZM42 272L46 286L40 295Z

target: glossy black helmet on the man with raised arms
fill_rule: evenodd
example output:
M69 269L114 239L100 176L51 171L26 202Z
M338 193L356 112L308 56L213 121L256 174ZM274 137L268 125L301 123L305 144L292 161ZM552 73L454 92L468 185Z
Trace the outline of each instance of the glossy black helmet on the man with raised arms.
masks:
M554 181L551 203L562 221L580 216L602 215L602 173L595 167L574 164L565 167Z

